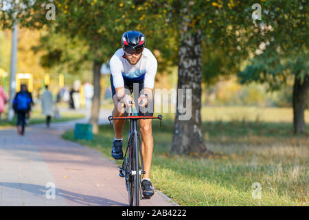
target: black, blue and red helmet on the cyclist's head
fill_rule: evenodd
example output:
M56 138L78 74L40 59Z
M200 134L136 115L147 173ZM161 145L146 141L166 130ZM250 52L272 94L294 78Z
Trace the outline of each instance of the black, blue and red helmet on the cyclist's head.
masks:
M140 54L145 47L145 36L141 32L129 30L122 35L122 48L127 54Z

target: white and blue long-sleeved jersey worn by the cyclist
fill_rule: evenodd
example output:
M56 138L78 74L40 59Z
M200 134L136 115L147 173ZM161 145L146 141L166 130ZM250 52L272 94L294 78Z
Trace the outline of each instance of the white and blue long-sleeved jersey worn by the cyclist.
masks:
M135 65L126 60L124 50L120 48L111 58L109 65L115 88L124 87L124 79L130 82L144 79L144 87L150 89L153 89L155 85L158 63L155 56L147 48L144 48L141 58Z

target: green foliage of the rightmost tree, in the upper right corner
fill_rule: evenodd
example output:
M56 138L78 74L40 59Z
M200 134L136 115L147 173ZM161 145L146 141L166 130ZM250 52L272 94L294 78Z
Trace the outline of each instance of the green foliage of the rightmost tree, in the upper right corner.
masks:
M308 74L308 14L306 1L266 1L262 30L253 35L259 47L253 49L253 58L238 75L242 83L268 83L270 89L279 89L288 74L304 78Z

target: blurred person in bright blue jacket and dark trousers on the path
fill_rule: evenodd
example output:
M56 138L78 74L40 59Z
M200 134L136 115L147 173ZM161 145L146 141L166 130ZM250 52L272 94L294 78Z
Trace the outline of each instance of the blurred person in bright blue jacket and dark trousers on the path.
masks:
M22 84L21 91L16 94L13 100L13 109L17 114L16 126L19 135L25 133L26 115L30 115L32 104L32 95L27 90L27 86Z

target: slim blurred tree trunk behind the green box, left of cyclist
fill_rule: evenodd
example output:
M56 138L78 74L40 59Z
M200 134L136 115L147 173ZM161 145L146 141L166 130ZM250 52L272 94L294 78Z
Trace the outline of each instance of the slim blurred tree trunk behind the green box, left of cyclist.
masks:
M101 63L94 61L93 63L93 87L94 93L92 98L91 105L91 118L89 120L89 124L93 126L93 133L99 132L98 119L100 112L100 94L101 94L101 85L100 85L100 67Z

